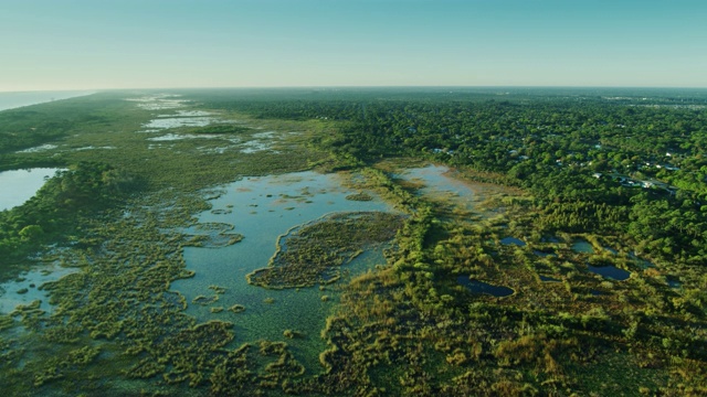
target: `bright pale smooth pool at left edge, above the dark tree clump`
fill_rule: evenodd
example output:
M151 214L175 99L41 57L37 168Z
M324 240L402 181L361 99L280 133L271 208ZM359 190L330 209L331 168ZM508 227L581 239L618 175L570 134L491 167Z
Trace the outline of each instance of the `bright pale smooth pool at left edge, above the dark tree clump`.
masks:
M22 205L60 169L36 168L0 172L0 211Z

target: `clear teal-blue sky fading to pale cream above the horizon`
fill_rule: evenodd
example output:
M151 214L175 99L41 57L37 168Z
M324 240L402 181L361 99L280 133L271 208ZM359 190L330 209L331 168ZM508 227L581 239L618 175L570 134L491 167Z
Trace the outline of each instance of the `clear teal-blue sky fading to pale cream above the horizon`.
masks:
M0 0L0 92L707 87L707 0Z

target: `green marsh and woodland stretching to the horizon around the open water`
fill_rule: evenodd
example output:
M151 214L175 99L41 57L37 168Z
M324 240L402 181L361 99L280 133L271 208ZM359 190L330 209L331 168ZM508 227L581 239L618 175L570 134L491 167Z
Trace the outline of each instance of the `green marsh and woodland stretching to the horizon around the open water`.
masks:
M703 92L179 95L106 93L0 112L0 169L66 170L0 213L0 281L48 262L76 269L36 286L51 309L34 300L0 313L2 390L707 393ZM146 132L155 117L188 117L170 106L218 121ZM149 140L162 132L183 139ZM453 168L445 178L473 191L473 205L400 178L429 162ZM245 297L228 301L214 285L188 301L170 286L199 277L186 267L189 247L249 239L238 224L198 222L215 187L302 170L340 172L359 192L348 200L374 193L399 213L303 219L272 242L252 288L319 283L329 316L320 335L293 323L281 337L244 341L240 324L257 321ZM310 205L303 197L297 205ZM376 266L339 279L342 265L388 242ZM276 292L271 309L288 303ZM319 336L320 352L292 348Z

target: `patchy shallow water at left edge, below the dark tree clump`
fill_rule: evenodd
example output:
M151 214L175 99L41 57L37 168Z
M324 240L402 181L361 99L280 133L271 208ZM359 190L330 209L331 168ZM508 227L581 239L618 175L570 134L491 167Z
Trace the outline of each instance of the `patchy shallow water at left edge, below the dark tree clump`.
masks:
M59 280L76 271L77 269L63 268L52 264L34 268L21 273L13 280L0 283L0 313L10 313L18 304L29 304L35 300L42 301L41 310L51 313L52 307L48 303L48 292L42 291L40 287L45 282ZM18 293L23 289L27 289L25 293Z

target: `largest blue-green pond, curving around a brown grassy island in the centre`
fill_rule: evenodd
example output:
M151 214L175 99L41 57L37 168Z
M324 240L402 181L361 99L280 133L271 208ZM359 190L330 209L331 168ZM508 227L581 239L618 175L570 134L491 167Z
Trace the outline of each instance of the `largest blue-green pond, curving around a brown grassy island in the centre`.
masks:
M334 307L329 299L337 298L336 285L275 290L247 283L246 275L266 267L279 236L295 226L335 212L393 212L372 192L367 192L371 201L347 200L357 192L341 182L336 174L307 171L244 178L208 193L212 208L198 215L199 223L223 225L243 239L218 248L184 248L187 269L196 276L172 282L171 289L187 299L186 312L199 322L233 322L234 346L281 341L285 330L296 331L300 337L287 343L306 367L318 366L317 355L325 347L319 332ZM355 275L377 264L384 264L382 247L363 251L340 270Z

